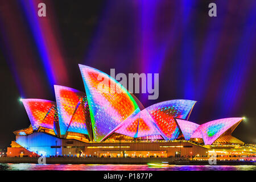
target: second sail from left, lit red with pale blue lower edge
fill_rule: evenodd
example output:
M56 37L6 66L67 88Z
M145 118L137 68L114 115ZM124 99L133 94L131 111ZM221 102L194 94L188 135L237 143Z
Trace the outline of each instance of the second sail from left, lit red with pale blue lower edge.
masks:
M59 115L60 134L65 135L68 129L69 131L88 134L85 118L86 114L89 113L88 109L85 109L85 106L87 106L87 103L85 104L86 100L83 101L83 98L86 97L85 93L59 85L54 85L54 89ZM81 102L84 102L84 104L81 104ZM70 124L71 126L69 126Z

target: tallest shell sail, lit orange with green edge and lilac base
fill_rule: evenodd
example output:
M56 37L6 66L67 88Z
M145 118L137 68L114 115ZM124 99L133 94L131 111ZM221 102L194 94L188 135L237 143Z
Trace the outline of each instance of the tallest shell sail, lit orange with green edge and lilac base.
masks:
M79 67L88 97L93 137L99 142L129 117L138 105L114 78L85 65Z

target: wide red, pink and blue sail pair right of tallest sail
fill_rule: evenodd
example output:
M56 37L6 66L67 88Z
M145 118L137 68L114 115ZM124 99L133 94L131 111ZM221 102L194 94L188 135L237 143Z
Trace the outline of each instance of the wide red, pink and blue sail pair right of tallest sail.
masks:
M189 100L160 102L138 114L132 114L115 133L134 138L163 135L167 140L174 140L179 136L179 128L174 118L188 118L193 105L195 101Z

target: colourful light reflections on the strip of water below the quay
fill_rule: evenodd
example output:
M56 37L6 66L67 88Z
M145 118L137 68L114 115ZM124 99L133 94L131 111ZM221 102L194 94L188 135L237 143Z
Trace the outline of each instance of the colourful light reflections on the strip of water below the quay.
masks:
M148 167L147 165L113 164L1 164L0 171L256 171L256 166L176 166Z

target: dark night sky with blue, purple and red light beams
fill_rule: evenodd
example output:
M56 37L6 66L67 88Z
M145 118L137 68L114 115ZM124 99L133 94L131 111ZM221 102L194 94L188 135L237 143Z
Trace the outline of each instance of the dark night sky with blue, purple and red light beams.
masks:
M256 143L256 1L29 2L0 2L0 148L30 125L20 97L55 101L53 84L85 90L78 64L159 73L158 100L135 94L144 107L195 100L189 121L246 117L233 136ZM39 2L46 18L32 14Z

